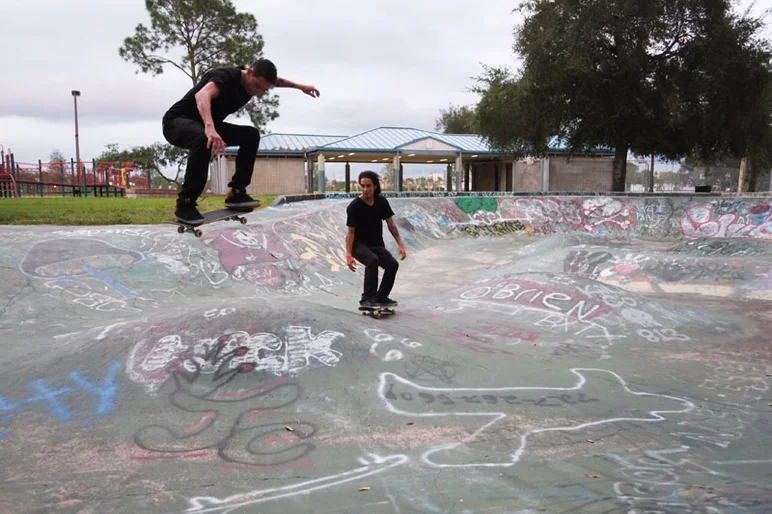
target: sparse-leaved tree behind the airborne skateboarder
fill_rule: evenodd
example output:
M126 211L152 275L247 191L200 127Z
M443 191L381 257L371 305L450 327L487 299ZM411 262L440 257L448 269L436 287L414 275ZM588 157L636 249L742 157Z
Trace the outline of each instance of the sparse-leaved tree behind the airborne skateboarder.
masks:
M250 65L263 56L257 20L237 12L230 0L145 0L145 8L150 27L137 25L119 49L138 72L156 76L168 65L195 85L212 68ZM279 116L278 105L276 95L255 97L237 114L247 112L255 127L265 131Z

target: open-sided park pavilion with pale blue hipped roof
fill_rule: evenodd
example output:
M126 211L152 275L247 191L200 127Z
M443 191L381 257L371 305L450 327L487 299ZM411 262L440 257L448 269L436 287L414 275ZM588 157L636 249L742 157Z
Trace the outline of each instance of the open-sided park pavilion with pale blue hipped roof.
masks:
M238 148L227 147L225 157L230 162L227 166L232 174L233 160ZM272 184L255 187L256 191L264 193L300 193L324 192L325 164L346 164L346 187L350 183L350 163L393 164L395 170L393 189L402 190L402 165L444 164L446 165L448 191L514 191L518 186L522 189L528 182L528 189L549 190L550 188L550 156L570 156L566 148L555 142L545 159L523 159L522 166L513 161L511 156L490 149L484 139L476 134L440 134L427 130L405 127L378 127L354 136L345 135L314 135L314 134L266 134L260 139L258 162L255 165L253 182L260 182L261 175L270 173L263 169L270 166L266 161L288 168L288 162L297 170L302 163L305 191L297 191L297 180L293 185L281 187L281 180L273 180ZM613 152L599 152L592 155L583 154L574 158L590 158L597 161L608 174L610 188L611 159ZM528 167L538 169L527 169ZM520 175L528 172L531 180L518 181ZM317 184L313 183L315 175ZM297 171L295 172L297 173ZM279 177L275 177L278 179ZM520 177L528 178L528 177ZM538 180L536 180L538 178ZM223 181L226 177L222 177ZM604 181L605 182L605 181ZM268 187L266 187L268 186ZM315 187L316 186L316 187ZM460 186L460 187L459 187ZM283 189L281 191L276 188ZM481 187L483 189L481 189ZM597 187L597 186L596 186ZM271 190L274 189L274 190ZM293 190L288 190L293 189Z

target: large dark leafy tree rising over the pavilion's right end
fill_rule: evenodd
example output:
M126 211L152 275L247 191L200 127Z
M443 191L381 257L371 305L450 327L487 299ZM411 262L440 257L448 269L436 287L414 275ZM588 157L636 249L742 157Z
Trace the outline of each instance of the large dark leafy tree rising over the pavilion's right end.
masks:
M698 81L715 86L721 73L690 58L721 51L711 34L737 23L730 0L525 0L520 11L522 69L478 79L491 146L539 155L557 137L576 153L613 148L612 189L623 191L629 151L674 160L696 145Z

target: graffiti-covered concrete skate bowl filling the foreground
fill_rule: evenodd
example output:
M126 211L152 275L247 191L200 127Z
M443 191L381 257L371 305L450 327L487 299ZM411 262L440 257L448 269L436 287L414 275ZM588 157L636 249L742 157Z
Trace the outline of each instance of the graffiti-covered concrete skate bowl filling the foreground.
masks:
M0 227L0 512L770 512L772 201L348 201Z

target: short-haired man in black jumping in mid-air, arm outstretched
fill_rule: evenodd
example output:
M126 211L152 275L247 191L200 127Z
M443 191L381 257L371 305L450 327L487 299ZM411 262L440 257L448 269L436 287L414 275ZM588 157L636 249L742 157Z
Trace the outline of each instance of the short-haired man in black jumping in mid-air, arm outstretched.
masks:
M249 68L225 67L208 71L201 81L172 105L163 117L163 133L174 146L189 150L185 182L177 196L175 217L190 225L200 225L204 217L196 200L204 191L209 175L209 159L225 149L238 146L236 171L228 183L225 207L251 210L260 206L247 194L252 181L260 132L254 127L233 125L223 120L241 109L253 96L262 96L273 87L290 87L318 97L314 86L296 84L277 76L276 66L258 59Z

